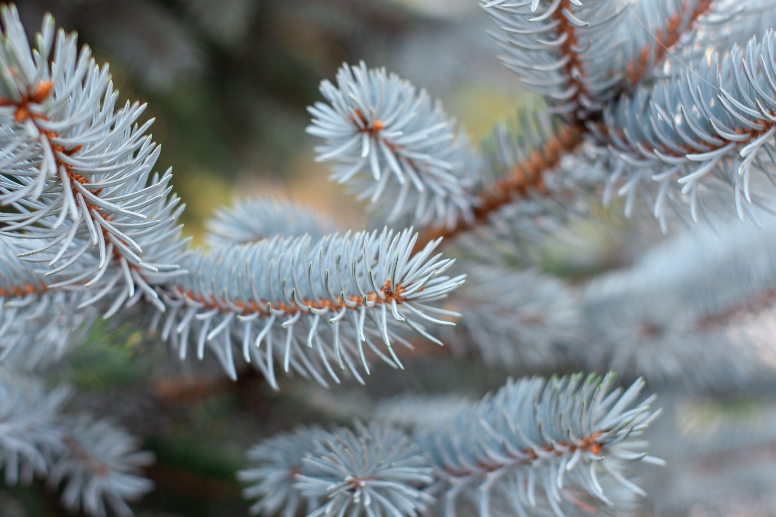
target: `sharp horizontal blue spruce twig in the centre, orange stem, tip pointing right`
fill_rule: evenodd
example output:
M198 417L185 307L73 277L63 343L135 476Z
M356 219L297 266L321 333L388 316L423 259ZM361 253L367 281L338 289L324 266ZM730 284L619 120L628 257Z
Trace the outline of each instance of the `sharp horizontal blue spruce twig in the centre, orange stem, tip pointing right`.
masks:
M167 297L162 337L181 357L189 342L200 358L209 348L232 377L233 346L241 346L244 361L275 388L275 361L323 385L325 377L340 382L336 369L346 367L363 382L358 364L369 374L368 354L402 367L393 344L412 345L401 327L442 344L428 324L455 325L440 317L458 314L435 302L465 275L443 274L454 260L432 256L438 242L412 253L416 240L411 230L383 230L275 237L194 253L189 274Z

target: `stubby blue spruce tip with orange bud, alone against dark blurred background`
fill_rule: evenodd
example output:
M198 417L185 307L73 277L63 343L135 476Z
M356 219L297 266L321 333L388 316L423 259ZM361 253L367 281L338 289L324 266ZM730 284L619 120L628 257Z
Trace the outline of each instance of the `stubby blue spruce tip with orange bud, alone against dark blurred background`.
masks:
M335 161L331 179L385 212L410 216L417 227L470 220L477 157L439 102L384 69L347 64L337 84L323 81L328 104L309 108L307 133L324 143L318 161Z

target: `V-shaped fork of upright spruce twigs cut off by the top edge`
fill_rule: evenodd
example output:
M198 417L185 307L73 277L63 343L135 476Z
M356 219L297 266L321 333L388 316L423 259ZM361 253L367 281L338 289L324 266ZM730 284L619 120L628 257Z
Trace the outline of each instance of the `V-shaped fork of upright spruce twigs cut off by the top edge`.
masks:
M570 120L653 77L711 0L480 0L501 29L501 60ZM634 10L635 9L635 10Z

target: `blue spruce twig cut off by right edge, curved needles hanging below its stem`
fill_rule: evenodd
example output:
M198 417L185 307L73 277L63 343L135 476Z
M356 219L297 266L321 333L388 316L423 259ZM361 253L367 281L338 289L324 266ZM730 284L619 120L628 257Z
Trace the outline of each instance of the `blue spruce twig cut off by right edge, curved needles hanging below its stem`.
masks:
M733 190L736 215L756 221L750 204L753 175L776 182L771 164L776 133L776 36L733 47L725 57L712 53L697 68L629 98L612 102L603 123L591 131L611 153L611 181L632 199L639 189L656 187L654 211L686 195L694 221L708 218L701 188L718 182ZM626 208L627 209L627 208Z

